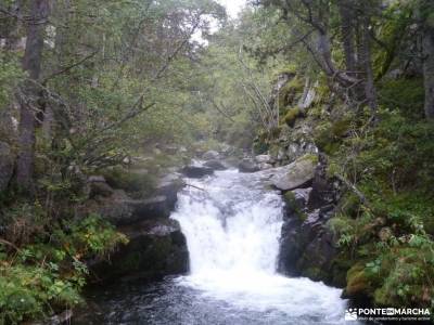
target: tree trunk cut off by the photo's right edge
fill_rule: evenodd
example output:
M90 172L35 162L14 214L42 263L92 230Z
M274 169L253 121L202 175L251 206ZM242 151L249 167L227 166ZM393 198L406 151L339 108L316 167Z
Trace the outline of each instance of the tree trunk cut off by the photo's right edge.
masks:
M434 28L423 31L423 78L425 87L425 116L434 119Z

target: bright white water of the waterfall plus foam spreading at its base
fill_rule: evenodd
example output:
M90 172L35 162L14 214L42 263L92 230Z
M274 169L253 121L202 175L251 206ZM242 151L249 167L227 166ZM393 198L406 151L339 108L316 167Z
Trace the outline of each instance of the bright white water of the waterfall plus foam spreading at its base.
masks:
M188 180L195 187L179 194L171 216L190 252L191 274L179 284L241 311L286 315L289 323L279 324L344 323L340 289L277 274L283 203L264 188L263 177L228 170Z

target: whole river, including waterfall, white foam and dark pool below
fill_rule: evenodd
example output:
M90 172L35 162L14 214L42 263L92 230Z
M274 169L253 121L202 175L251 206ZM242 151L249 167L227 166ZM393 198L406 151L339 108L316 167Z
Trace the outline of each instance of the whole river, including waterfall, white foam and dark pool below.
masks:
M264 177L188 179L171 218L187 237L190 274L93 292L99 312L82 324L344 324L341 289L276 272L283 202Z

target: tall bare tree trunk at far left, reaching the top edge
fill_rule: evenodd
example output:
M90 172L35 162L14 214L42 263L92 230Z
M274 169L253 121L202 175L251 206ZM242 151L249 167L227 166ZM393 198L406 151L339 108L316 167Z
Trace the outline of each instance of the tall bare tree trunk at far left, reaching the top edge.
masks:
M25 190L33 188L35 159L35 112L34 105L39 98L37 81L40 76L43 49L43 35L49 13L49 0L35 0L31 4L31 20L27 26L26 51L23 68L28 72L29 79L22 87L21 119L20 119L20 152L17 159L16 181Z

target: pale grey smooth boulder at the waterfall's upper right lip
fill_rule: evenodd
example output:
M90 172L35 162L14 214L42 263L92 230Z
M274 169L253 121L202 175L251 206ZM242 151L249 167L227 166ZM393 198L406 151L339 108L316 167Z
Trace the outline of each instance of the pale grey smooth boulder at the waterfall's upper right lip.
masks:
M281 191L306 187L314 179L317 164L317 156L305 155L290 165L276 168L271 184Z

